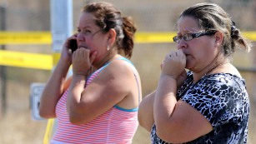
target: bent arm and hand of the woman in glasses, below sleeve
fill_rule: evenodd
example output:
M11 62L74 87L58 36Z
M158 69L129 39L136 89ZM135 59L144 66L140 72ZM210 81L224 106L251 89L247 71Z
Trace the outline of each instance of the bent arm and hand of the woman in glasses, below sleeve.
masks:
M185 56L178 51L163 62L163 71L153 105L158 137L166 142L192 141L212 131L208 120L196 109L176 99L177 78L183 72Z

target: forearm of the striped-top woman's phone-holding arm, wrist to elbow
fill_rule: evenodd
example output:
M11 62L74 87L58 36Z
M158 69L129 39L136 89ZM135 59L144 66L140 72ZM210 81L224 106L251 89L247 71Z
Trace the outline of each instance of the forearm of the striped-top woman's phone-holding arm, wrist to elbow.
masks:
M63 94L63 87L70 64L58 62L52 76L49 78L41 97L39 112L41 117L55 117L55 106Z

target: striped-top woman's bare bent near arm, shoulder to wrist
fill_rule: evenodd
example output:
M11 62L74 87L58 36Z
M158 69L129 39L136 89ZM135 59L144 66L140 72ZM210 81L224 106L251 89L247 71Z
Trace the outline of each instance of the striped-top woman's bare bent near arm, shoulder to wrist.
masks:
M70 122L90 122L131 94L130 86L136 86L136 81L131 66L123 63L111 62L86 88L81 84L84 76L73 76L67 102Z

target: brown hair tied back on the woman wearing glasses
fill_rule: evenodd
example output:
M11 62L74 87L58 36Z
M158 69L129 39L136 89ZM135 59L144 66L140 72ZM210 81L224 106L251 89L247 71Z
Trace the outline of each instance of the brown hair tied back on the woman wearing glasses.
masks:
M180 17L184 16L198 20L198 26L205 31L217 30L223 32L223 54L225 57L231 57L237 46L242 46L246 52L250 51L249 42L235 27L235 23L228 13L217 4L210 2L198 3L184 10Z

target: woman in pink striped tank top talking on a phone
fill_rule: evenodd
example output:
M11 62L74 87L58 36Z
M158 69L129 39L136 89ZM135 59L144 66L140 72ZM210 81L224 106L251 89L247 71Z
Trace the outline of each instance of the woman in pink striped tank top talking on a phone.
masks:
M83 7L78 32L65 42L41 98L40 116L58 120L51 143L132 143L141 100L140 78L128 60L135 32L108 2Z

